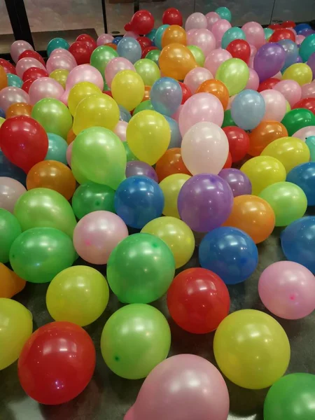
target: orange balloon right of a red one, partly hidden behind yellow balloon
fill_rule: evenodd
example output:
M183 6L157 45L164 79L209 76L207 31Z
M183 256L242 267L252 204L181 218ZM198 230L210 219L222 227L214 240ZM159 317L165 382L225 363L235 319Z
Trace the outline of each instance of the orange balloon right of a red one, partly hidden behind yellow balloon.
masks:
M248 136L248 155L259 156L272 141L287 137L288 130L278 121L262 121Z

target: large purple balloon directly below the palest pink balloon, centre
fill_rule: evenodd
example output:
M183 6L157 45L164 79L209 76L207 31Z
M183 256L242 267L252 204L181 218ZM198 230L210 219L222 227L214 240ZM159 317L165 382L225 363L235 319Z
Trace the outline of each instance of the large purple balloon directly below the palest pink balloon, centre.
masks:
M181 219L195 232L209 232L221 226L232 211L229 184L214 174L198 174L183 184L177 201Z

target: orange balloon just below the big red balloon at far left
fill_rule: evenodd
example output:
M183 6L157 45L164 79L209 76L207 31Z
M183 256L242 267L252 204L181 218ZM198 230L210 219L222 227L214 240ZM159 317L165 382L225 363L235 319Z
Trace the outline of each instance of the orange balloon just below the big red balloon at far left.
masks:
M76 179L71 169L57 160L36 163L27 174L27 190L50 188L70 200L76 190Z

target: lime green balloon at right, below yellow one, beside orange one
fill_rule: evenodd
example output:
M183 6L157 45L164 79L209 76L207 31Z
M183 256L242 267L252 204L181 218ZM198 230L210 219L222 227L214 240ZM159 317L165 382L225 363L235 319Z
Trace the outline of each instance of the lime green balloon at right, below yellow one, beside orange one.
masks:
M276 216L276 226L288 226L304 216L307 197L299 186L291 182L276 182L258 195L268 202Z

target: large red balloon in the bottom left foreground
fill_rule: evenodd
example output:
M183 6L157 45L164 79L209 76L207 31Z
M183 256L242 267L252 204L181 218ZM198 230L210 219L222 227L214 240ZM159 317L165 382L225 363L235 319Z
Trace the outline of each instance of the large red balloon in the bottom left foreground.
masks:
M90 335L71 322L38 328L18 361L24 391L41 404L63 404L76 398L92 378L95 349Z

